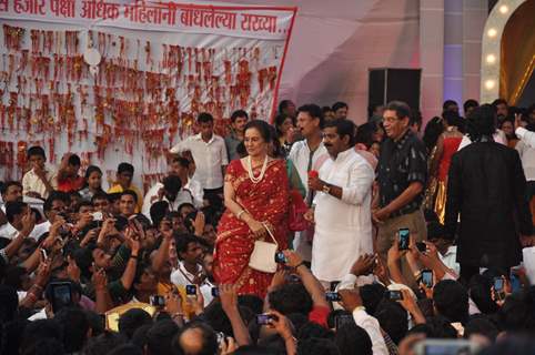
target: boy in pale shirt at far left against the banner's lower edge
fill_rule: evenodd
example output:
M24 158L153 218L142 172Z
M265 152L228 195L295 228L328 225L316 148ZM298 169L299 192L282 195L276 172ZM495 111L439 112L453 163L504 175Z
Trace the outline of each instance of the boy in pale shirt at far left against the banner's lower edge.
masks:
M58 187L57 172L46 165L47 155L41 146L32 146L28 150L28 161L32 169L22 178L23 194L47 199Z

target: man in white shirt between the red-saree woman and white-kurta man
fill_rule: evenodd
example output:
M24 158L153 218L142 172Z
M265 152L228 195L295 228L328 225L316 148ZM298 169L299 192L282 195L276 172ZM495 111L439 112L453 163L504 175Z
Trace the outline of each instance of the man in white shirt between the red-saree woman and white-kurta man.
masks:
M306 203L312 204L313 191L309 191L307 181L309 172L312 170L320 170L323 162L329 159L327 151L323 145L322 129L323 129L323 113L322 109L315 104L305 104L299 108L297 128L304 140L295 142L287 156L299 172L301 182L306 189ZM296 233L293 241L294 250L301 257L307 262L312 258L312 245L310 241L312 235L307 235L306 231Z

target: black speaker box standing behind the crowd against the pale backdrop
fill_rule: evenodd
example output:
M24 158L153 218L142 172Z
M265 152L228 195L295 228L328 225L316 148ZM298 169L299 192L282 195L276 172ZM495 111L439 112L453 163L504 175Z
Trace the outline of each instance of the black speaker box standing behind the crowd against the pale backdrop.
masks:
M421 69L369 69L367 104L386 104L398 100L420 110Z

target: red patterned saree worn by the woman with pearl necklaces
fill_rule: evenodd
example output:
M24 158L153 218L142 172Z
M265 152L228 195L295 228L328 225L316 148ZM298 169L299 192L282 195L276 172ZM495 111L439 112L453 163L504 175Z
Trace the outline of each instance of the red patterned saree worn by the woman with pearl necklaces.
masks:
M254 170L255 176L260 170L261 168ZM266 222L271 226L279 248L286 248L289 183L284 161L271 161L264 179L255 184L249 179L241 161L234 160L226 169L225 182L231 182L234 186L235 200L256 221ZM269 242L271 237L264 240ZM236 284L239 294L254 294L263 298L273 274L249 267L254 241L248 224L226 210L218 226L213 273L219 284Z

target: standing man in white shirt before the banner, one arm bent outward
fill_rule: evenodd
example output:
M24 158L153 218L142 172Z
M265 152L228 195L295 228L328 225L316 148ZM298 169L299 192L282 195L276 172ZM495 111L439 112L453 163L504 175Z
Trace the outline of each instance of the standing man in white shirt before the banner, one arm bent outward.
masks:
M223 199L223 176L229 164L224 140L213 133L213 118L201 113L196 119L201 132L174 145L171 153L190 151L195 161L195 180L204 189L206 197Z

